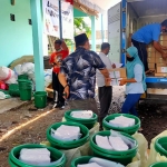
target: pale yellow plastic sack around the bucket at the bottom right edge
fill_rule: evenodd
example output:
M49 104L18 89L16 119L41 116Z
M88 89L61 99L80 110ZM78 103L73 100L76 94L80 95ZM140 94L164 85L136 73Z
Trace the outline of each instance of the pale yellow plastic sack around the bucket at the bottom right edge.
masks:
M147 166L149 166L149 165L151 165L154 163L158 163L158 161L167 161L167 158L165 156L160 156L155 150L155 141L156 141L156 139L159 138L159 137L165 137L165 136L167 136L167 130L163 131L161 134L159 134L158 136L156 136L154 139L151 139L150 153L149 153L149 156L148 156Z

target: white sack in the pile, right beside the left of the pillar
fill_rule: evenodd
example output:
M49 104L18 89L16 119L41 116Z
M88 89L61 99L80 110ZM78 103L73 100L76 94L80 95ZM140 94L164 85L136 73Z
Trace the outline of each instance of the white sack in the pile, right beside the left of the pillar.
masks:
M32 62L22 63L21 71L22 73L26 73L26 75L35 73L35 63Z

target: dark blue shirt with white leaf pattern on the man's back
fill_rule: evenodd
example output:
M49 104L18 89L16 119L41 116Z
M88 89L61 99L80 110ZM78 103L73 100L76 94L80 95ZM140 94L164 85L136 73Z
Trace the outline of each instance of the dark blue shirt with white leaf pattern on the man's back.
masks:
M70 100L80 100L95 97L96 69L102 70L106 66L100 57L90 50L78 47L61 65L60 72L66 75L70 86Z

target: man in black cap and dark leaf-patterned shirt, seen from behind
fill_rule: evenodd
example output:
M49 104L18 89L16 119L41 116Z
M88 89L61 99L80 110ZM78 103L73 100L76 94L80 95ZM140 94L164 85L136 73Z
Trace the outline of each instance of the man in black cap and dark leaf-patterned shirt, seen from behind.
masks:
M86 33L76 36L75 42L76 51L62 61L59 73L65 98L69 99L70 109L92 110L98 115L95 100L96 69L105 78L109 78L109 72L100 57L90 50Z

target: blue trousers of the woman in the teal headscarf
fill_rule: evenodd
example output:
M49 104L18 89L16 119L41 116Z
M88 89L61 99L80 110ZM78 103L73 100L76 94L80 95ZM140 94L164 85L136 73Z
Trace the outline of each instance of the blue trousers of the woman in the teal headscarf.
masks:
M141 94L128 94L126 97L126 100L122 105L121 112L138 116L138 114L136 111L136 104L140 99L140 96L141 96Z

